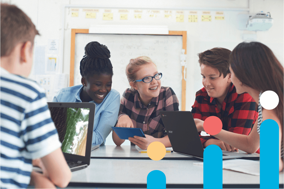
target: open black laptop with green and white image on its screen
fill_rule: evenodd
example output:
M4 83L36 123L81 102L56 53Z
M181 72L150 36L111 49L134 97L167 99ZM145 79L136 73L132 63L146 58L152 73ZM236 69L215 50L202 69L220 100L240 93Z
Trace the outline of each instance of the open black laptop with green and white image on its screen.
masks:
M61 150L72 172L90 165L95 106L92 102L48 102Z

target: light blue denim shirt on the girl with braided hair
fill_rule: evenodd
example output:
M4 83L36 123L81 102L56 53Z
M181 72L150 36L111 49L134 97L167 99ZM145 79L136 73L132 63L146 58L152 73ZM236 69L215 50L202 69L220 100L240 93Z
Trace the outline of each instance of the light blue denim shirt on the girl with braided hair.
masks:
M60 89L52 102L82 102L80 93L83 90L83 87L83 85L76 85ZM93 100L90 102L95 103ZM107 136L112 130L111 127L115 126L117 120L120 106L120 94L115 89L111 89L103 102L95 104L96 110L92 143L104 145Z

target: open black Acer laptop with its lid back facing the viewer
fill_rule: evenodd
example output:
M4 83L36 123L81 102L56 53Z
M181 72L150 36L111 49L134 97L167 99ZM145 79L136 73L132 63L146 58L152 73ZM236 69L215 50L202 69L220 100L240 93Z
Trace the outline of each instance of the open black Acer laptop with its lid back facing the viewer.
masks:
M190 111L160 111L172 148L175 152L203 159L204 148ZM223 159L255 157L253 154L223 152Z

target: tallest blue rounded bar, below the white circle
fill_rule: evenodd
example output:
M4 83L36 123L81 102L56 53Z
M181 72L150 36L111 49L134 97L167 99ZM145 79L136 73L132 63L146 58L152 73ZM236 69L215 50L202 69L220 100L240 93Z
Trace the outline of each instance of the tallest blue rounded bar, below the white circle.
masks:
M260 188L279 188L279 126L272 119L260 126Z

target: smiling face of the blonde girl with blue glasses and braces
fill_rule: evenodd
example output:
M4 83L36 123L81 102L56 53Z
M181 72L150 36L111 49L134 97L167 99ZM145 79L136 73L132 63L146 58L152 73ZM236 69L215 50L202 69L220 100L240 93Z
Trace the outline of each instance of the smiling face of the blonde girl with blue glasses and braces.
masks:
M155 76L158 73L156 65L153 63L142 65L136 73L136 80L143 79L147 76ZM143 81L135 81L132 83L132 87L139 92L140 100L147 105L153 97L158 97L161 90L161 80L153 80L150 83L144 83Z

